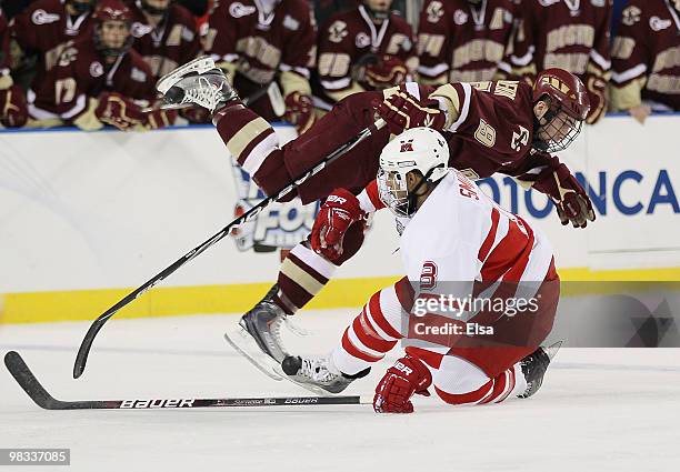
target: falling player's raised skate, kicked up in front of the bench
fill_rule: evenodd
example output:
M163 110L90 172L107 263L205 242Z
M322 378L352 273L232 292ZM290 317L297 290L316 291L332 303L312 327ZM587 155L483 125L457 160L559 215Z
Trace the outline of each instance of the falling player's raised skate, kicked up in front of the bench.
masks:
M156 83L156 90L163 96L162 108L166 109L197 104L213 112L220 106L239 98L224 72L207 56L163 76Z

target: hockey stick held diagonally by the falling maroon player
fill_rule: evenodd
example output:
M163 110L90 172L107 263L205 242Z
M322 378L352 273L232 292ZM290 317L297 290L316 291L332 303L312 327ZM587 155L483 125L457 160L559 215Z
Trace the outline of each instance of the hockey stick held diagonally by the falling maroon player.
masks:
M361 141L363 141L369 135L377 132L378 130L384 128L386 124L387 123L384 122L384 120L379 119L370 127L364 128L354 138L350 139L344 144L341 144L338 149L336 149L333 152L331 152L326 158L323 158L321 162L319 162L312 169L308 170L303 175L296 179L292 183L290 183L289 185L287 185L286 188L277 192L274 195L268 197L264 200L262 200L260 203L252 207L246 213L243 213L242 215L233 220L231 223L227 224L224 228L222 228L220 231L214 233L208 240L203 241L198 247L193 248L191 251L187 252L184 255L182 255L177 261L174 261L173 263L168 265L166 269L160 271L158 274L156 274L152 279L144 282L143 285L137 288L134 291L126 295L122 300L120 300L113 307L111 307L110 309L104 311L101 315L99 315L99 318L97 318L97 320L92 322L82 342L80 343L80 348L78 349L78 354L76 355L76 363L73 365L73 379L78 379L80 375L82 375L82 372L84 371L84 368L86 368L86 363L88 362L88 354L90 353L90 348L92 348L92 343L94 342L94 337L97 337L97 333L99 332L99 330L101 330L104 323L111 317L113 317L121 308L134 301L134 299L143 294L147 290L151 289L158 282L162 281L168 275L172 274L174 271L177 271L179 268L184 265L187 262L189 262L197 255L201 254L212 244L220 241L222 238L224 238L227 234L230 233L232 228L238 227L241 223L244 223L247 221L254 219L258 215L258 213L260 213L260 211L262 211L262 209L264 209L264 207L267 207L269 203L276 200L280 200L284 195L290 193L297 185L306 182L311 177L321 172L327 165L329 165L336 159L340 158L341 155L344 155L346 153L354 149Z

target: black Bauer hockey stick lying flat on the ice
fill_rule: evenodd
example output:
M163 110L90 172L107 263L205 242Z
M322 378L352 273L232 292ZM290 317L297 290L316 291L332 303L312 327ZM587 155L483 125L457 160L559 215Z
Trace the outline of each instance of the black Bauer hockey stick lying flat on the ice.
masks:
M294 405L338 405L368 404L360 396L261 396L231 399L134 399L134 400L57 400L44 390L21 355L10 351L4 355L4 365L14 380L44 410L153 410L189 408L240 408L240 406L294 406Z

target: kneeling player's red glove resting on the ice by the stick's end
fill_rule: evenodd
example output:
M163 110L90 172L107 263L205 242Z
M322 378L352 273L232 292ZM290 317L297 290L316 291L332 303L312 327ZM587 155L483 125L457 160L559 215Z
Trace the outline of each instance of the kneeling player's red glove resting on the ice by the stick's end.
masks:
M412 413L414 393L430 396L430 370L419 359L406 355L388 369L376 386L373 410L377 413Z

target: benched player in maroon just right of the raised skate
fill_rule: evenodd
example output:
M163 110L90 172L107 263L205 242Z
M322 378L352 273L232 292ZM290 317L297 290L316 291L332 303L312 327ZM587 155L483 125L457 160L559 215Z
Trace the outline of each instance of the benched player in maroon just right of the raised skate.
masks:
M279 120L283 111L302 133L314 122L309 69L316 40L306 0L220 0L210 14L204 47L239 94L253 98L252 110L268 121ZM276 94L259 94L273 81L282 90L283 107L274 103Z

